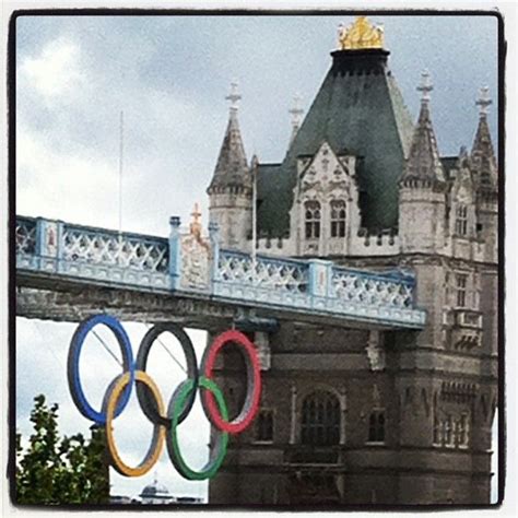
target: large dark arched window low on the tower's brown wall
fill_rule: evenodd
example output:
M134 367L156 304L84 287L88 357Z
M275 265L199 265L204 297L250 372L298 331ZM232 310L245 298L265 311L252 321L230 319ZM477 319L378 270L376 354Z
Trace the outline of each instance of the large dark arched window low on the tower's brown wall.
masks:
M303 401L301 439L305 445L340 443L340 401L331 392L313 392Z

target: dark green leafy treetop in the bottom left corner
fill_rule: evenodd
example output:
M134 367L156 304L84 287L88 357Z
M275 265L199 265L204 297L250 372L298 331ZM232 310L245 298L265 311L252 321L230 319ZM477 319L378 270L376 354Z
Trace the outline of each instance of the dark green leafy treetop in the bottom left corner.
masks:
M82 434L60 438L58 405L49 408L43 395L34 402L34 433L25 451L16 434L17 504L106 504L109 479L104 429L91 428L89 442Z

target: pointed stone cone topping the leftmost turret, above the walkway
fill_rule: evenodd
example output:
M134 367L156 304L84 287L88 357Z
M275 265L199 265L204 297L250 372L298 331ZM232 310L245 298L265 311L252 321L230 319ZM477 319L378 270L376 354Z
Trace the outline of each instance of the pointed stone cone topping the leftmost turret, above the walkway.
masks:
M242 96L235 81L231 83L231 93L225 98L231 102L228 125L209 186L209 193L214 189L251 188L250 173L237 120L238 103Z

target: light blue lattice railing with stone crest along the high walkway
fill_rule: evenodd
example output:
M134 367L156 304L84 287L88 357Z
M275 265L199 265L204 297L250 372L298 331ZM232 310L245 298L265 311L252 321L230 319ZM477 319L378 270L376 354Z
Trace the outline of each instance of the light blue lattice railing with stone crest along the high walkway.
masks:
M252 258L220 249L217 228L212 225L209 231L210 244L198 250L184 247L186 236L179 232L178 217L172 217L167 239L17 216L16 268L140 290L202 292L258 307L388 326L421 328L425 323L425 313L415 307L415 278L411 273L353 270L320 259ZM205 256L183 257L186 250ZM185 282L190 278L198 284Z

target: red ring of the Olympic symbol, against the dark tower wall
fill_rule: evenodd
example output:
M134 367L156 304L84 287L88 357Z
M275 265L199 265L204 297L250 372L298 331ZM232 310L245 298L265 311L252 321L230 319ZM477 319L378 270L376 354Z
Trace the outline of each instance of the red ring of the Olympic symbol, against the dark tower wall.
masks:
M261 397L261 369L254 344L239 331L225 331L217 335L211 346L207 349L201 361L204 376L213 380L213 368L220 350L228 342L237 343L242 346L247 366L247 396L239 415L232 422L225 421L219 411L214 396L209 391L203 391L201 401L205 414L210 422L222 432L239 434L250 425L259 410Z

